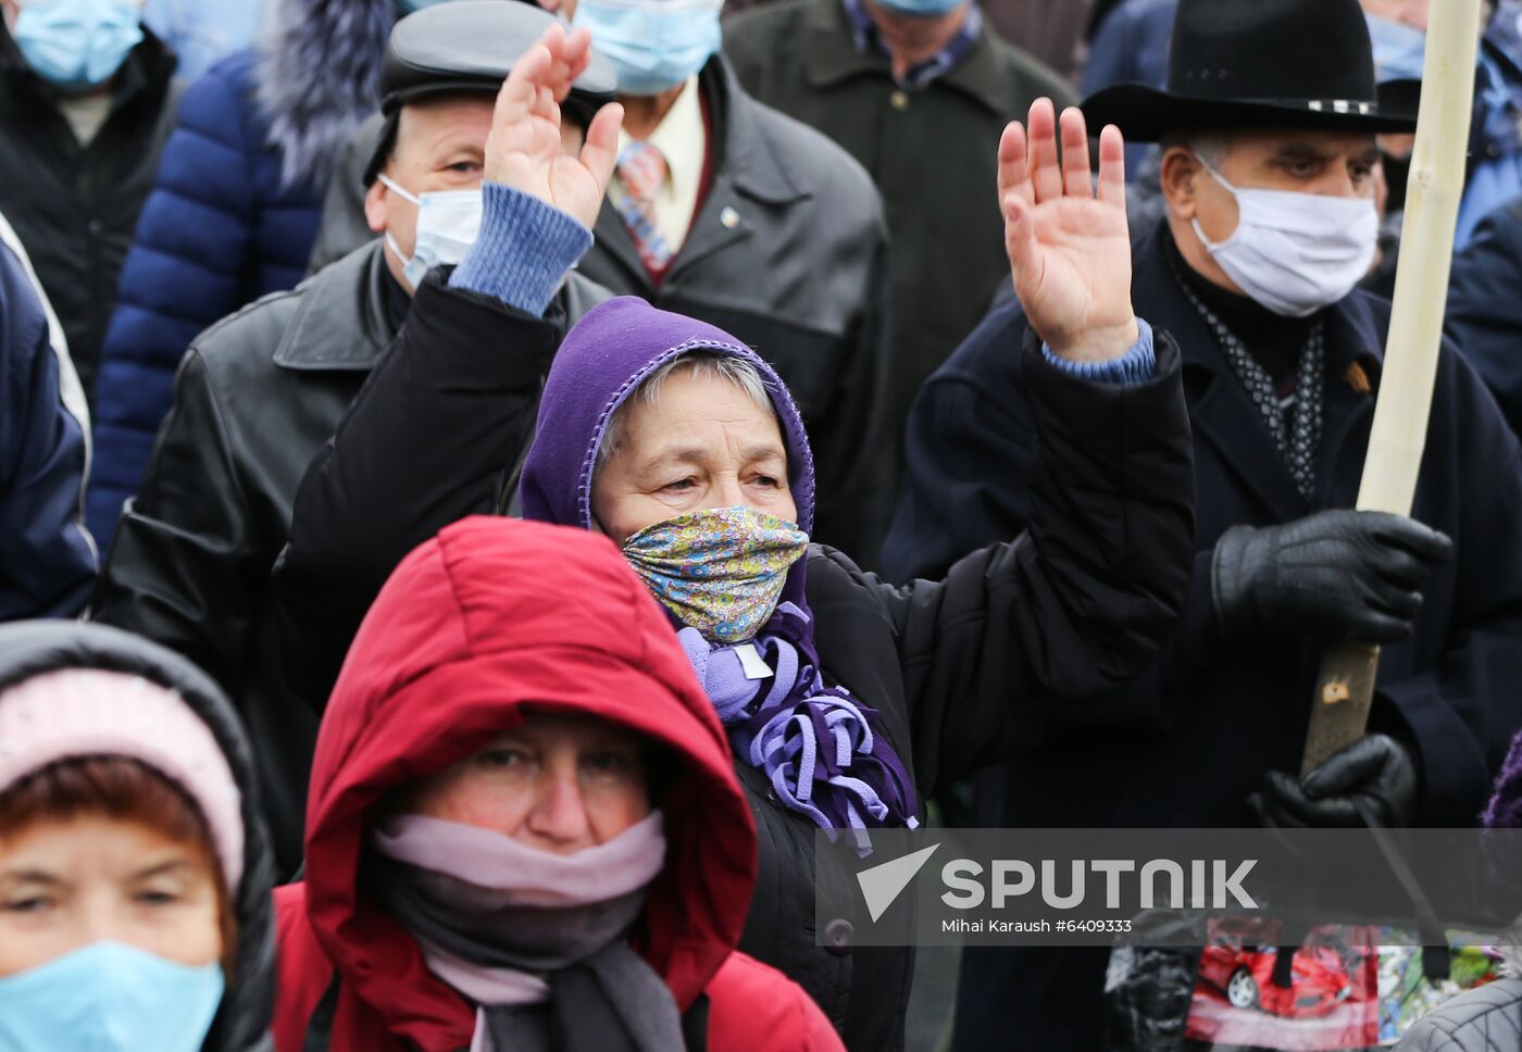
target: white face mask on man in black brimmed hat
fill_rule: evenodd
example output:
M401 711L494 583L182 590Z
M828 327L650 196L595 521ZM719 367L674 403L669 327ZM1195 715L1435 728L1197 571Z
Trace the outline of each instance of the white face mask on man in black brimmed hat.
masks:
M1237 228L1213 242L1195 234L1243 292L1274 314L1306 318L1364 280L1374 262L1379 212L1370 198L1237 189L1204 161L1237 201Z

